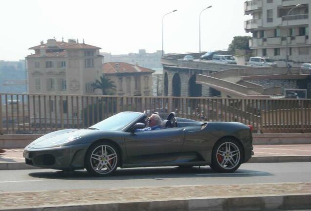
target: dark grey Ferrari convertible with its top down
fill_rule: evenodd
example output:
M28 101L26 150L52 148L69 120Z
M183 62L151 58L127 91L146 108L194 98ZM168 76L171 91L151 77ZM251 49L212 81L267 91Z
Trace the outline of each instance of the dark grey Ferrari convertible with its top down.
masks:
M233 172L251 158L251 128L237 122L198 122L170 113L162 128L145 127L147 115L121 112L87 129L63 129L29 144L28 165L48 169L87 169L96 176L117 167L206 166Z

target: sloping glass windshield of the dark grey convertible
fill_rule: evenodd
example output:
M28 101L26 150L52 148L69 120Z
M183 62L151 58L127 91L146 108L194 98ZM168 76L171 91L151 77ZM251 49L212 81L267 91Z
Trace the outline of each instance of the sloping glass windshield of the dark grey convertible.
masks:
M89 129L120 130L129 125L139 116L139 113L121 112L89 127Z

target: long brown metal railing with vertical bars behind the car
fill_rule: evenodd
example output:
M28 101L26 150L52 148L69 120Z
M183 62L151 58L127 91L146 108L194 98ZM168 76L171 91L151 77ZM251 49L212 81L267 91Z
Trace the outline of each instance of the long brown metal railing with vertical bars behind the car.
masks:
M235 121L261 132L311 130L309 99L0 94L1 134L87 128L121 111L170 111L198 121ZM14 102L14 103L12 103Z

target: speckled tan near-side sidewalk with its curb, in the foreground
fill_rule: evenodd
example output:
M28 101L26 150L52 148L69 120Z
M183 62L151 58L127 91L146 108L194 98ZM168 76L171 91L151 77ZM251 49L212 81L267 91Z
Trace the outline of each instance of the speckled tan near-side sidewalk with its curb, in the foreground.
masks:
M206 211L311 208L311 183L202 185L0 193L0 210Z

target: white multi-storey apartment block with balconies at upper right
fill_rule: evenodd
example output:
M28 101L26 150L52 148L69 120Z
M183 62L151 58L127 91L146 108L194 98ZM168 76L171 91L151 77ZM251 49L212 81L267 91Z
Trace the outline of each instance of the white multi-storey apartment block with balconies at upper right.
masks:
M249 41L254 56L268 56L286 66L311 63L310 0L247 0L244 29L252 33ZM288 53L287 53L288 52Z

